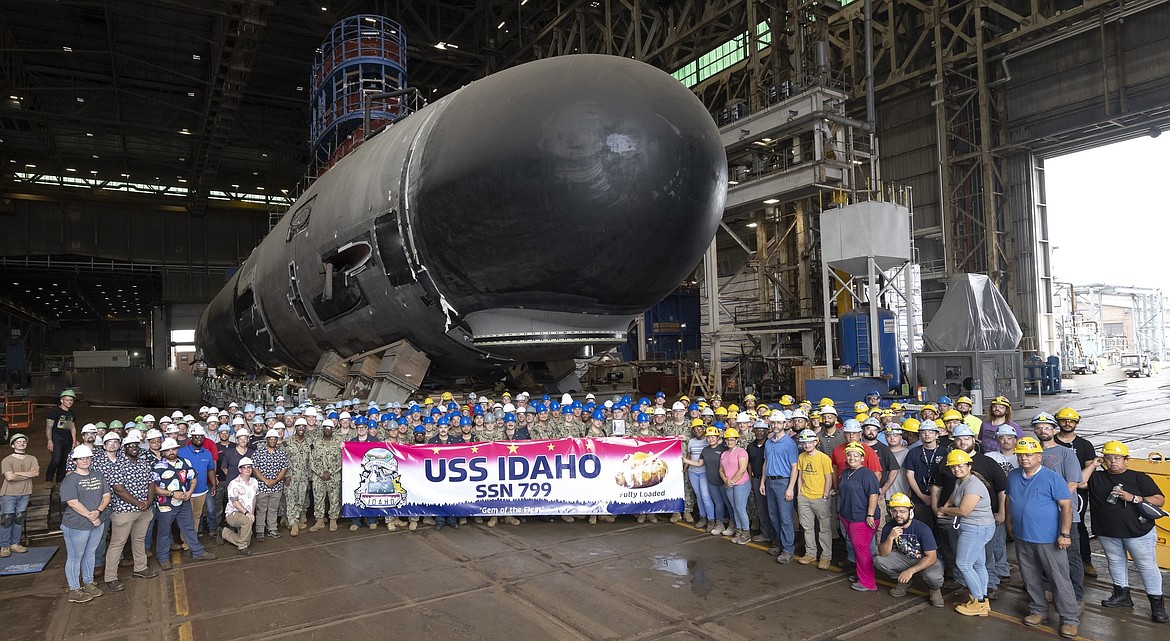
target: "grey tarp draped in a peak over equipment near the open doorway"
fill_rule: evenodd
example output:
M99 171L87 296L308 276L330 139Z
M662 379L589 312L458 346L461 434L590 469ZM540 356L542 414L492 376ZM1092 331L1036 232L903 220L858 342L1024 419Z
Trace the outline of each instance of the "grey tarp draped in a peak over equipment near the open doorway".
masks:
M1007 301L983 274L958 274L923 332L932 352L1014 350L1024 333Z

